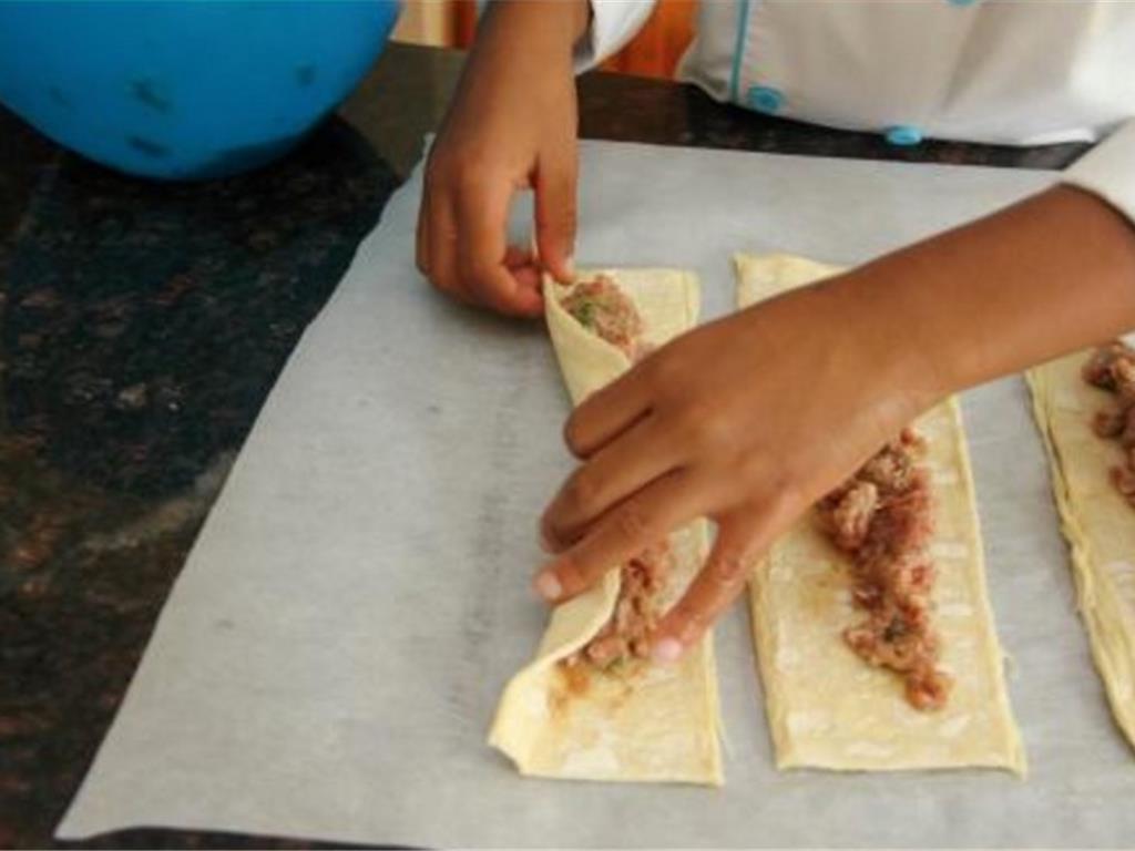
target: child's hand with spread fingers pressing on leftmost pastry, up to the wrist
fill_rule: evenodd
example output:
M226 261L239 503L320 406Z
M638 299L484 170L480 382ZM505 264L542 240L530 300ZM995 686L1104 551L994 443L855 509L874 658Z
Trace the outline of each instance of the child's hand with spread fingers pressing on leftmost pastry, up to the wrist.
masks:
M922 359L840 279L704 326L585 401L566 440L585 463L543 520L560 556L537 579L574 596L697 516L717 539L659 624L659 660L700 638L770 544L930 399ZM901 388L901 389L900 389Z

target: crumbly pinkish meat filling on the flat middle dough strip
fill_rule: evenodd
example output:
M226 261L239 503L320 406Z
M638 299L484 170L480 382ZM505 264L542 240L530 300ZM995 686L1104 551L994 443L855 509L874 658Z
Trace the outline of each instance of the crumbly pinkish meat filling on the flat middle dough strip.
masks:
M866 618L843 639L865 662L902 675L916 709L940 709L951 680L938 668L931 618L934 563L930 473L923 439L905 429L816 506L821 524L851 563L852 599Z

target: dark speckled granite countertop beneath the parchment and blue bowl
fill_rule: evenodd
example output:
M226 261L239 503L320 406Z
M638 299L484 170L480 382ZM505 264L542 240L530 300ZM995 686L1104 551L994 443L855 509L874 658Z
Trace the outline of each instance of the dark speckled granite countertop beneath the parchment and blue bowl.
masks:
M461 54L392 45L285 161L148 184L0 109L0 848L52 844L288 352L421 151ZM896 149L590 75L582 135L1059 168L1082 145ZM98 846L310 846L128 831Z

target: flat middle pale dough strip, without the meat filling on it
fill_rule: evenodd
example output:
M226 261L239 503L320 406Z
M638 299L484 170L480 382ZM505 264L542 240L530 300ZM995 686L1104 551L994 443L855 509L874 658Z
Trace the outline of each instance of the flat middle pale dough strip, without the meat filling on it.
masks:
M738 303L748 306L835 275L784 254L738 255ZM843 557L809 512L776 542L750 583L753 633L779 768L835 770L1003 768L1025 774L1006 692L1002 651L985 589L982 540L961 416L950 399L915 423L927 439L939 567L935 620L947 706L914 709L900 677L868 666L842 631L861 620Z

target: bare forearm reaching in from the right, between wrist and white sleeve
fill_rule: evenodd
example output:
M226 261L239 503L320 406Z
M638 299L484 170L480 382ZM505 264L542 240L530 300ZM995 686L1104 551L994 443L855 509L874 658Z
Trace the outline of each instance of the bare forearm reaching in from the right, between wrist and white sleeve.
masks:
M1135 228L1060 186L836 279L916 405L1135 328ZM852 306L854 305L854 306Z

